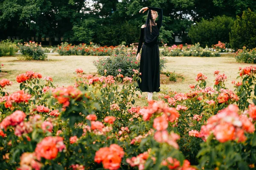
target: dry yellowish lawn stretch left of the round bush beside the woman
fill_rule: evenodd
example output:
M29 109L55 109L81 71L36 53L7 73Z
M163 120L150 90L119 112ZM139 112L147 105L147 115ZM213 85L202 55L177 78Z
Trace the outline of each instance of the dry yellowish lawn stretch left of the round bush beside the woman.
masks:
M19 84L15 78L17 75L32 70L39 72L43 76L51 76L58 86L73 85L76 80L74 74L77 68L82 68L85 72L97 72L93 65L95 56L56 56L48 55L49 61L19 61L17 57L2 57L0 60L4 64L3 72L7 72L2 78L7 78L13 82L7 90L14 92L19 89Z

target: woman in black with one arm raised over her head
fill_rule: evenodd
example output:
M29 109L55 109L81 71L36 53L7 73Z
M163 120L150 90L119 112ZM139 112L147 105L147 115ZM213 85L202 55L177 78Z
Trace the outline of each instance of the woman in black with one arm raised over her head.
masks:
M160 58L157 38L162 26L163 11L160 8L144 7L140 9L140 12L143 11L144 13L147 10L146 23L140 29L140 42L136 59L140 59L141 82L138 82L139 88L142 92L148 92L148 100L152 100L153 92L160 91ZM158 16L157 12L159 18L155 23ZM143 39L145 39L145 43L142 45Z

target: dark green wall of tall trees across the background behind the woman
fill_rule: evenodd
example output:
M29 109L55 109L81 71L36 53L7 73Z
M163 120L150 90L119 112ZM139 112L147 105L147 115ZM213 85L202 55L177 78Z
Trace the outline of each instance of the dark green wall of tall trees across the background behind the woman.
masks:
M192 23L218 15L235 18L250 7L253 0L0 0L0 39L49 37L49 44L61 41L108 46L138 42L145 6L163 8L160 41L174 43L174 35L190 41ZM173 34L172 34L173 33ZM213 36L212 36L213 37ZM56 39L55 39L56 38ZM62 39L63 38L63 39ZM224 40L221 40L225 42ZM42 43L46 43L42 41ZM217 42L215 42L217 43Z

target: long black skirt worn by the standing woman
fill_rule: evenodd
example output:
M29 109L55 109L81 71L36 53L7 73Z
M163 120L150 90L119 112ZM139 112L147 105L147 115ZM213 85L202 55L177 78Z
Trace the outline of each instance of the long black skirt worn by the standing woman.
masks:
M159 92L160 91L160 58L159 46L148 47L142 46L140 58L140 78L138 81L139 88L142 92Z

